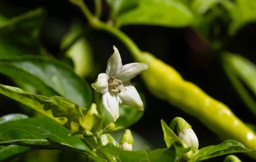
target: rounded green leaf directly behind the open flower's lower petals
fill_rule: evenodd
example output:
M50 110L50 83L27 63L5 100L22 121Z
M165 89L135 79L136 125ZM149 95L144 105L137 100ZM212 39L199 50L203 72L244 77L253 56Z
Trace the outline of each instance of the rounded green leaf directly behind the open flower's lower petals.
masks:
M134 107L119 104L119 118L116 120L116 127L122 126L123 129L135 124L140 120L145 112L145 97L142 93L140 94L140 98L143 101L144 110L137 110ZM100 102L101 111L104 114L104 125L107 126L109 123L114 122L113 117L110 113L104 108L102 101Z

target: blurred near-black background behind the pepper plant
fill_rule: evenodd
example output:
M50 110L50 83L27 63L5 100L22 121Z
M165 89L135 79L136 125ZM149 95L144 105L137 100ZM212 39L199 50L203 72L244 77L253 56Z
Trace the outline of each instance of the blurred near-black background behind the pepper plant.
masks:
M85 0L85 3L93 11L93 1ZM76 20L86 27L87 20L81 11L67 0L0 0L0 13L6 17L17 16L38 7L43 7L47 11L40 41L48 52L57 56L60 49L60 40L70 29L70 24ZM107 20L108 14L109 8L103 2L101 20ZM256 63L255 27L256 23L244 26L235 36L228 39L221 50L239 53ZM141 50L151 52L157 58L174 67L185 80L198 85L204 92L230 107L242 121L256 124L252 114L246 109L221 67L219 50L213 50L209 43L203 40L193 29L124 26L121 30L134 40ZM99 72L105 71L106 62L113 53L113 45L119 49L123 64L133 61L125 46L106 32L88 29L86 38L93 49L95 64L98 66ZM0 78L1 84L14 85L4 75L0 75ZM95 78L87 79L90 84L94 80ZM138 89L144 92L146 110L143 118L131 126L130 129L147 139L154 148L166 147L160 119L169 124L177 116L186 119L191 124L198 136L199 148L217 145L221 142L221 139L218 139L197 119L149 93L140 77L134 78L132 82L136 82L139 85ZM0 95L0 101L0 116L8 113L24 113L14 100ZM239 153L237 155L244 162L250 161L244 154ZM222 161L224 157L220 156L207 161Z

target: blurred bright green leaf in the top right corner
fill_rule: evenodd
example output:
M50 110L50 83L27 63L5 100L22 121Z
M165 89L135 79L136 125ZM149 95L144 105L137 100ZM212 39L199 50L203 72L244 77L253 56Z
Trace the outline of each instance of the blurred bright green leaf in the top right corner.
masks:
M230 0L223 1L224 6L230 13L232 23L230 24L229 34L234 35L247 23L256 21L256 0Z

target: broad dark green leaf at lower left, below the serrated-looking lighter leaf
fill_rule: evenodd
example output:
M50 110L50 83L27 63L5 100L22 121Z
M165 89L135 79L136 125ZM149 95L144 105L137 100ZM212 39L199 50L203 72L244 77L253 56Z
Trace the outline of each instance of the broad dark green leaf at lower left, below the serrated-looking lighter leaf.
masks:
M71 150L97 156L70 131L47 118L20 119L0 124L0 145L35 149Z

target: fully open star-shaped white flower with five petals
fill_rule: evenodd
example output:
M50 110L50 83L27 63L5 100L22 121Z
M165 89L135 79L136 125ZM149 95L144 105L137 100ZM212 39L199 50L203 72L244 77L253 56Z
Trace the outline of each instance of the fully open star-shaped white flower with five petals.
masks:
M143 110L140 95L131 84L131 78L148 69L149 64L131 63L122 66L118 49L113 46L114 53L108 59L106 73L98 75L92 87L102 93L103 105L114 121L119 117L118 104L125 104L138 110Z

